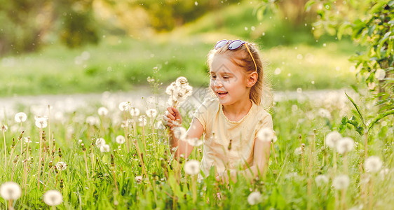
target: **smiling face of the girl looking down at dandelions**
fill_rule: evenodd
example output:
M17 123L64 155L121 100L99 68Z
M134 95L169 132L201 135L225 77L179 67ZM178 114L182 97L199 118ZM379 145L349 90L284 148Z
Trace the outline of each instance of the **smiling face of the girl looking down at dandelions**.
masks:
M210 69L210 87L220 104L232 105L249 100L251 85L240 66L226 55L215 55ZM254 84L254 83L253 83Z

